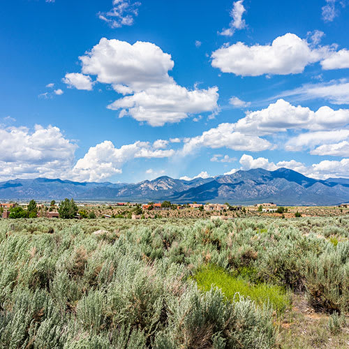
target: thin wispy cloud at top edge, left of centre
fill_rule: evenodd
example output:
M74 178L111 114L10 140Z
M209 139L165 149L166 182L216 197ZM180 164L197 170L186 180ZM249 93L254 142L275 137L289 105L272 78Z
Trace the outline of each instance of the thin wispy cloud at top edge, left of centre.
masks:
M131 26L134 17L138 16L140 5L139 1L113 0L112 9L108 12L98 13L98 17L112 28L121 28L124 25Z

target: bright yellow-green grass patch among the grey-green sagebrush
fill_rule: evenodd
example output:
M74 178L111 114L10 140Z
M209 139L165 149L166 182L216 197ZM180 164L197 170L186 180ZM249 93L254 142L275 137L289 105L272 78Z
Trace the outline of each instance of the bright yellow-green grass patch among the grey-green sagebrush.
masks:
M220 288L230 302L238 302L241 297L249 297L258 305L269 302L278 313L283 313L290 306L290 297L283 288L267 283L256 285L232 276L214 265L203 267L193 278L202 291L209 291L212 285Z

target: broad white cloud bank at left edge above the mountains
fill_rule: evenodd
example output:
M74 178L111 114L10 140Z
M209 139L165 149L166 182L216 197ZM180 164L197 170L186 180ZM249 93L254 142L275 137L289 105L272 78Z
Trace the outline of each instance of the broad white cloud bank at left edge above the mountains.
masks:
M63 177L73 165L77 145L57 127L0 128L0 179Z

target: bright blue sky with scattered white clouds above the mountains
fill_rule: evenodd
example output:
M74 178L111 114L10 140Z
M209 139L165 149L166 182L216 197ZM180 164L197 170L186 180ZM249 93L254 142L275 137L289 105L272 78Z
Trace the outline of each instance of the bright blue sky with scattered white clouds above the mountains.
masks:
M0 180L349 177L346 1L13 0Z

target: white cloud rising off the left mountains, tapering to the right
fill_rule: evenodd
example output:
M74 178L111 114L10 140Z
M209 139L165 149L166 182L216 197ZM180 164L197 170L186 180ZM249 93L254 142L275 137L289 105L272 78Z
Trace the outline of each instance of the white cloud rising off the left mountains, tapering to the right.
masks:
M149 142L135 142L115 148L109 140L91 147L80 158L71 171L77 181L104 181L122 172L122 165L134 158L168 158L173 156L172 149L161 150L151 147Z

